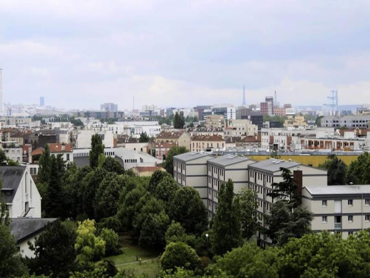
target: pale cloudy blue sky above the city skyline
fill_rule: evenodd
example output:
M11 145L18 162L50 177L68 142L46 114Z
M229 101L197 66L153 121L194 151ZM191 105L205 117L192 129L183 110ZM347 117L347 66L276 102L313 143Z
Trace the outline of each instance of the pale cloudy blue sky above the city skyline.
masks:
M4 101L370 103L370 1L1 0Z

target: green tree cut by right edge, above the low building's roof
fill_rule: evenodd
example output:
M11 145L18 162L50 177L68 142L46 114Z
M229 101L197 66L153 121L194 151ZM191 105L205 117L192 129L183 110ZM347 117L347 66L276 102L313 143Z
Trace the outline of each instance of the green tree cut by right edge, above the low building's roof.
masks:
M370 184L370 154L365 152L351 162L347 171L347 182Z

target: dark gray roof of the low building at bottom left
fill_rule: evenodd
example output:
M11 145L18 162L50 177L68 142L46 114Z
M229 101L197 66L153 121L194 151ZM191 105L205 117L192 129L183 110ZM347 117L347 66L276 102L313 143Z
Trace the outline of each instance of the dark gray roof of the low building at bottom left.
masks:
M57 218L12 218L10 233L16 242L23 241L41 232L45 225L54 222Z

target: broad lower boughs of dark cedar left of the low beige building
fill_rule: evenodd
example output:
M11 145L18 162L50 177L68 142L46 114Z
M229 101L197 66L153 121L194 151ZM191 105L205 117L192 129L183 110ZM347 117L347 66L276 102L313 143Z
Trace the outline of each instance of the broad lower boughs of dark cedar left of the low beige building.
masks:
M312 219L312 214L302 205L292 210L289 203L279 200L271 205L270 214L266 216L268 235L273 244L283 245L289 238L301 238L310 233Z

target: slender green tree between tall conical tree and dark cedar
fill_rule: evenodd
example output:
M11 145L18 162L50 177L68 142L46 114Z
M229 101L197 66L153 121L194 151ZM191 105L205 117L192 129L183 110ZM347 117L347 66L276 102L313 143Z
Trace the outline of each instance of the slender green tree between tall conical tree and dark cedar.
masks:
M256 214L256 208L258 206L256 196L256 192L250 189L243 189L239 195L242 235L246 239L255 235L259 226Z

